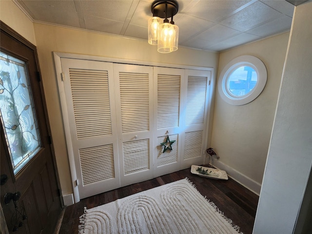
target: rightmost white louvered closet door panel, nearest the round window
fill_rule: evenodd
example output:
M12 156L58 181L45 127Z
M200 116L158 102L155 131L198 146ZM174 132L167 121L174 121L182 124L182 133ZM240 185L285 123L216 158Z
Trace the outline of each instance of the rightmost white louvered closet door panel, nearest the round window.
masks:
M211 71L185 71L181 170L204 162L210 76Z

